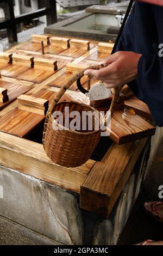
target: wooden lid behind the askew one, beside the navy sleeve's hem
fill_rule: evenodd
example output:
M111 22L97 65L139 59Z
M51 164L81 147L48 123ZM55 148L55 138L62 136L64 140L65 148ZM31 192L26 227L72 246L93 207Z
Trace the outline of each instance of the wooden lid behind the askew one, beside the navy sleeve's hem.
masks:
M135 110L136 114L141 115L149 120L153 120L151 112L145 102L137 99L135 96L130 97L124 101L124 106L126 108L132 108Z

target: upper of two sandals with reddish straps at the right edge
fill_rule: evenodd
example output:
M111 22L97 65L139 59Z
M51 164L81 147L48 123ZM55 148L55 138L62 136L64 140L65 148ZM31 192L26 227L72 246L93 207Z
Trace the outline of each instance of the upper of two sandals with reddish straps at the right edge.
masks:
M148 202L148 204L151 205L151 209L154 215L145 208L145 204L144 204L143 210L146 212L146 214L154 218L154 220L163 223L163 216L159 214L158 209L156 208L156 206L163 205L163 202Z

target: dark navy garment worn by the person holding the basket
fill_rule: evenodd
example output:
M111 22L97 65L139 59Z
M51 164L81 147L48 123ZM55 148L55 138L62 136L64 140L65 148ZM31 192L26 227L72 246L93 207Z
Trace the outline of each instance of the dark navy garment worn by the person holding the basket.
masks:
M163 57L159 57L160 44L163 44L163 7L135 3L117 51L143 54L138 63L138 77L128 86L136 97L147 103L156 124L163 126Z

